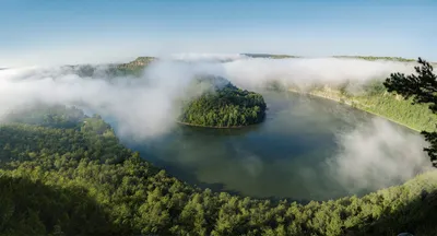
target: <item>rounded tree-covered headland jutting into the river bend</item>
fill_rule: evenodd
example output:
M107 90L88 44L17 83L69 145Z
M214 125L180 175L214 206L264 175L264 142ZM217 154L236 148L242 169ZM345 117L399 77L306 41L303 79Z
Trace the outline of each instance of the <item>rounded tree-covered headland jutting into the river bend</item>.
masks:
M267 105L261 94L240 90L223 78L197 79L193 86L212 85L182 105L179 121L204 127L241 127L262 122Z

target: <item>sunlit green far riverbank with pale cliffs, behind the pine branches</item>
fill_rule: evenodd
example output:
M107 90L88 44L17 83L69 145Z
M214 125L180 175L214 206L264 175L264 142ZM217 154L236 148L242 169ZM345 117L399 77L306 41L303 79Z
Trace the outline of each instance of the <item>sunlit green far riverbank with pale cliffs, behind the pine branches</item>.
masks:
M345 96L342 95L340 91L327 87L310 92L288 88L288 92L342 103L417 132L421 132L422 130L435 130L434 123L436 117L427 109L427 106L412 105L411 101L404 101L391 94L385 93L375 96Z

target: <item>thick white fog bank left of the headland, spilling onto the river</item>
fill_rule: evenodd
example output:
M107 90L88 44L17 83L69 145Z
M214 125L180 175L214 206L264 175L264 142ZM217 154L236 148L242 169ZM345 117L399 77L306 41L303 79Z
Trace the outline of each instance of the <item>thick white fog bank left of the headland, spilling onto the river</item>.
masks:
M98 72L80 76L68 68L27 68L0 72L0 117L36 103L85 107L115 119L121 134L153 137L168 131L177 116L175 99L182 96L191 71L152 66L144 76L108 78Z

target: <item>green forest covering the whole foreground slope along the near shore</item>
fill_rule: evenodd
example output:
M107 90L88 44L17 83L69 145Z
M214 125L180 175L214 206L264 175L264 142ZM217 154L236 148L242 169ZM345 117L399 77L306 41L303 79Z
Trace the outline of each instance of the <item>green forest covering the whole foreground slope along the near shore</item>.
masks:
M44 110L0 127L1 235L437 234L436 172L362 198L251 199L169 176L97 115Z

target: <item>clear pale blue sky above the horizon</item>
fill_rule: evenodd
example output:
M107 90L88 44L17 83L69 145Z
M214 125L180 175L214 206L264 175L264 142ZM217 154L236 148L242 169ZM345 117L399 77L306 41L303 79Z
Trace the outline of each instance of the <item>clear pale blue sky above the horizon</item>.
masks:
M437 60L437 1L0 0L0 67L172 52Z

